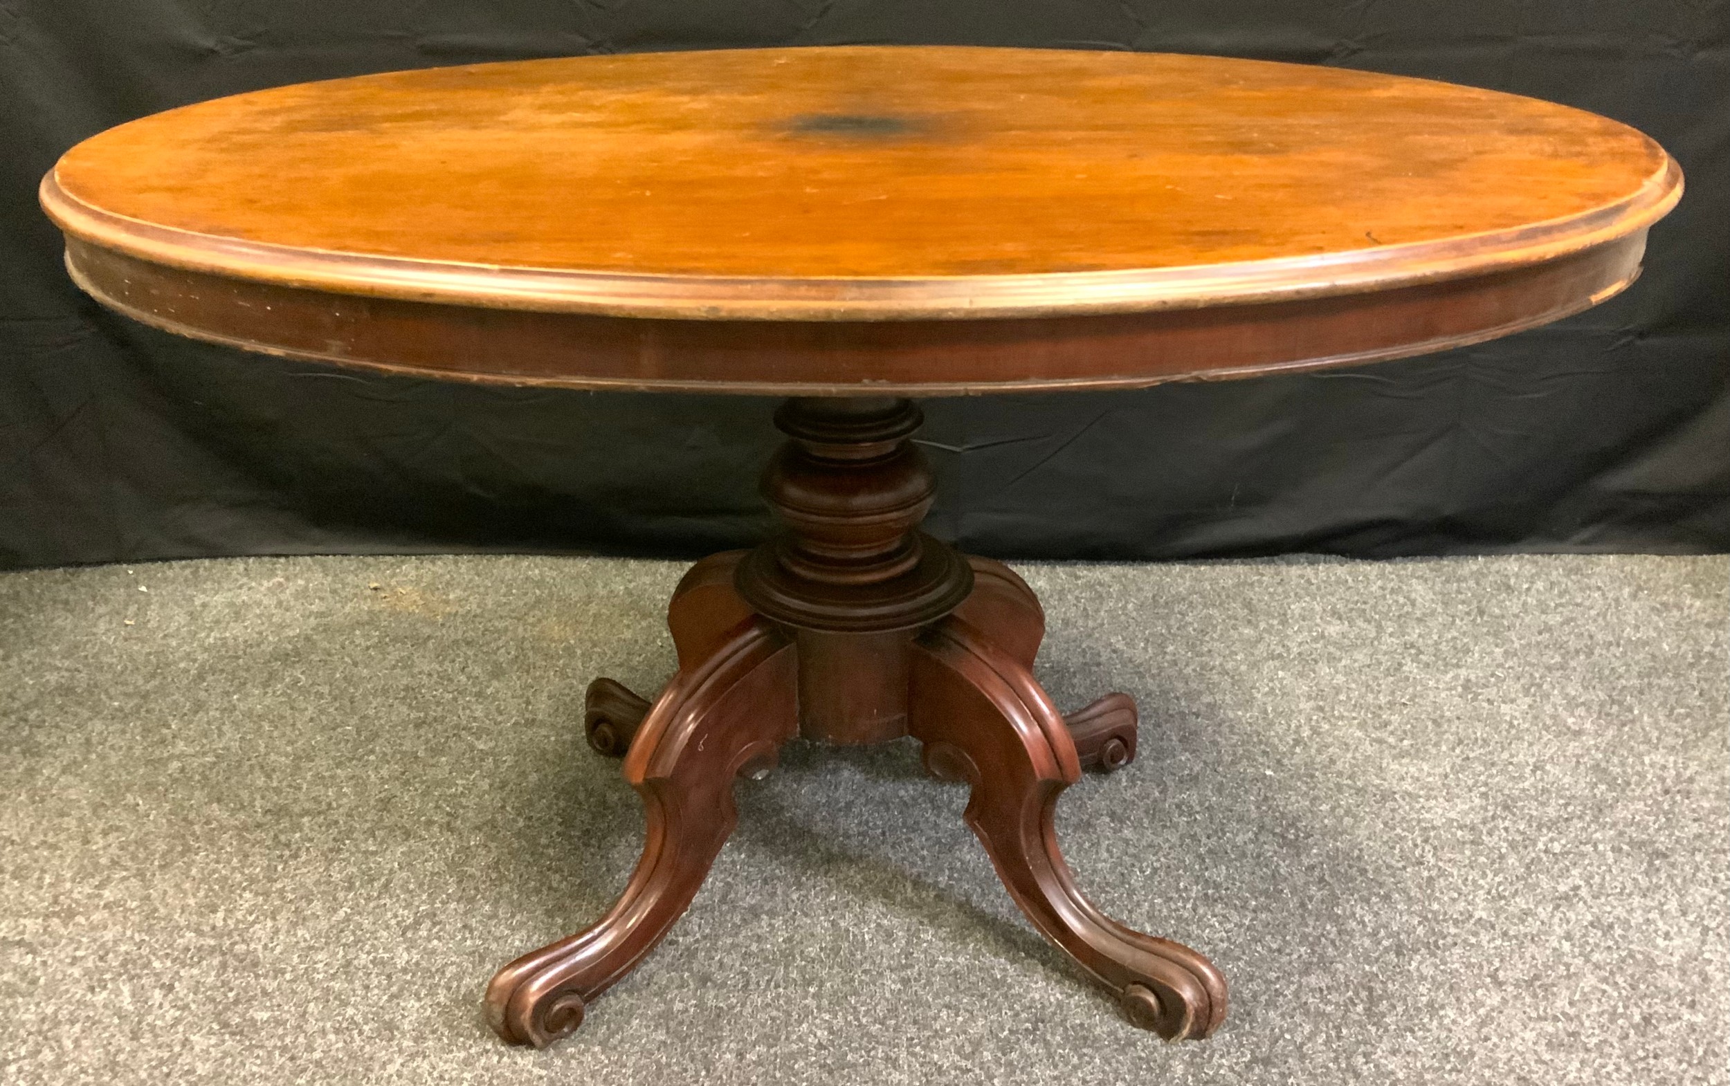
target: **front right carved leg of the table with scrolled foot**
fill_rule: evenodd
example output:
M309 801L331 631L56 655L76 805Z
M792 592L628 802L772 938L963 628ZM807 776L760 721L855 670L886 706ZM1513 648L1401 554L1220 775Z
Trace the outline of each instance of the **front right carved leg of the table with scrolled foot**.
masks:
M1076 889L1057 849L1057 795L1081 775L1064 718L1024 659L964 616L913 647L910 730L934 776L972 785L967 823L1040 932L1166 1039L1204 1038L1225 1019L1225 977L1195 951L1123 927Z

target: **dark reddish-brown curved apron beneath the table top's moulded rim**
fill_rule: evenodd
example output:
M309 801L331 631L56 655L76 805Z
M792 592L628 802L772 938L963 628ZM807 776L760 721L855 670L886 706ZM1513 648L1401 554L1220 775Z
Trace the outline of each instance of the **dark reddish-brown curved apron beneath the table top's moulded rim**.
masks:
M1145 387L1441 351L1578 313L1640 273L1644 232L1540 265L1313 299L984 320L652 320L362 297L67 244L99 301L168 332L505 386L945 396Z

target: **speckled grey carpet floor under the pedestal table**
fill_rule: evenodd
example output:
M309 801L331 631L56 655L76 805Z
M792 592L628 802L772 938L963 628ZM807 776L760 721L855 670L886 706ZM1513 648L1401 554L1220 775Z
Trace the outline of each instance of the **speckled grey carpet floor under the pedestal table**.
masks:
M680 572L287 559L0 576L0 1081L1725 1083L1723 557L1029 565L1114 917L1213 955L1131 1029L912 744L796 744L685 920L545 1053L479 994L623 885L583 687ZM377 588L372 588L377 585Z

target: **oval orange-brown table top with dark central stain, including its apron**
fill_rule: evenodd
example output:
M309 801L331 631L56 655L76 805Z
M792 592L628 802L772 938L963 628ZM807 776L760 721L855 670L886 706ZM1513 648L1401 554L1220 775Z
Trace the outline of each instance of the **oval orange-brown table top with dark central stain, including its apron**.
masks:
M1149 384L1483 339L1621 289L1680 190L1676 164L1642 133L1488 90L1168 54L836 47L263 90L85 140L43 178L42 201L81 285L192 335L483 380L849 391ZM240 311L273 313L277 299L306 320L317 296L351 325L441 315L640 341L644 327L614 327L637 320L661 339L718 342L678 330L711 322L732 329L727 342L798 339L789 351L837 341L839 329L811 325L903 323L849 339L955 348L1024 339L1035 332L1007 325L1029 322L1043 341L1071 337L1054 329L1116 329L1121 341L1159 313L1189 311L1164 318L1182 325L1221 306L1375 306L1446 282L1555 278L1564 265L1578 282L1552 284L1538 308L1515 313L1503 297L1439 337L1317 341L1303 358L1227 351L1195 372L1169 358L1005 370L977 344L965 372L858 358L763 370L713 348L695 367L676 346L645 361L640 342L618 348L637 351L631 365L547 356L500 372L424 344L393 355L355 335L296 339ZM913 329L957 322L974 327ZM749 330L763 323L806 330Z

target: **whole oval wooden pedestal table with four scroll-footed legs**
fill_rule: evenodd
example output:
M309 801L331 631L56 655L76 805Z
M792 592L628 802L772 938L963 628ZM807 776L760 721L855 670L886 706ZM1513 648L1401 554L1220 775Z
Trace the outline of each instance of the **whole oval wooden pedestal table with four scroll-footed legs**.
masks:
M919 531L913 398L1356 365L1541 325L1638 275L1682 192L1548 102L1218 57L843 47L477 64L121 125L42 182L66 263L149 325L450 380L789 399L780 533L673 595L678 671L586 726L647 806L588 930L507 965L547 1044L685 911L732 782L803 735L913 735L1052 942L1161 1036L1225 979L1076 889L1054 808L1135 756L1135 704L1035 681L1040 604Z

